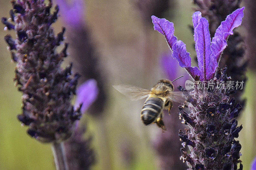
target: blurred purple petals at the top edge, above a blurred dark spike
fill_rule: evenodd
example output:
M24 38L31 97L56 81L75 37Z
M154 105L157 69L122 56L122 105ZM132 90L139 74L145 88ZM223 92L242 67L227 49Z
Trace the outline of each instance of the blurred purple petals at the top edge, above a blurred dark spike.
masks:
M56 0L60 6L60 14L65 23L72 27L81 27L84 25L84 16L86 13L84 0Z

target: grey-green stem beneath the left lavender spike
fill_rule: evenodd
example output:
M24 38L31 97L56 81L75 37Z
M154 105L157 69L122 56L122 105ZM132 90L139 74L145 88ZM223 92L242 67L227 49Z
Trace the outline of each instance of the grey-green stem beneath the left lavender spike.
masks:
M68 170L67 157L63 142L53 142L52 152L54 156L56 170Z

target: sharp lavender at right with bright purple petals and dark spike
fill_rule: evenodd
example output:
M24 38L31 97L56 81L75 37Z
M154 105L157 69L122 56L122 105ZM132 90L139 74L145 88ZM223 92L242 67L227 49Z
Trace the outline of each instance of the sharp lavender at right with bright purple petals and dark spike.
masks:
M233 34L233 29L240 26L244 16L244 7L237 9L221 22L214 37L210 37L209 23L202 17L201 12L193 14L194 40L199 67L191 66L191 58L186 50L186 45L174 36L173 23L166 19L152 16L154 29L162 33L172 50L180 67L183 67L195 80L192 91L189 93L193 101L188 104L188 109L180 105L180 117L183 123L188 124L186 132L180 130L179 136L183 147L186 145L190 153L181 148L180 159L187 162L190 169L237 169L243 165L240 160L241 144L234 138L243 128L237 127L236 117L241 111L241 105L235 105L235 99L229 99L231 90L220 88L221 82L227 82L227 67L222 70L218 67L222 51L227 47L227 39ZM199 88L201 83L205 87ZM212 87L212 88L209 88Z

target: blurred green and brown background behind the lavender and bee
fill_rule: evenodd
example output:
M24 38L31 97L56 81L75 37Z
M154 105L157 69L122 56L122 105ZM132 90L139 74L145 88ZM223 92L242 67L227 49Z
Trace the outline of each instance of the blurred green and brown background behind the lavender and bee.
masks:
M174 23L175 35L187 44L188 51L194 56L193 35L188 28L192 24L192 7L191 1L176 1L175 8L167 11L172 14L167 19ZM1 16L8 16L11 4L2 0L0 9ZM112 85L129 83L149 89L158 79L166 78L159 62L161 53L168 50L164 37L154 31L153 25L142 24L139 11L131 0L86 1L85 20L92 33L100 63L108 74L106 83L109 100L103 115L97 119L90 115L82 118L88 124L89 134L93 136L92 148L97 156L97 163L92 169L159 169L152 140L160 130L155 125L146 127L141 123L143 101L129 101L115 91ZM56 33L62 25L60 17L53 24ZM26 134L27 127L21 126L16 118L21 113L21 93L14 85L15 64L11 63L4 42L7 33L13 37L15 35L3 31L4 25L1 28L0 169L55 169L51 144L41 144L29 137ZM152 48L145 48L148 43ZM152 63L145 64L147 57ZM70 61L72 56L67 58L65 64ZM247 76L244 93L247 104L238 120L244 127L238 140L242 144L241 159L245 170L250 169L256 155L256 75L249 70Z

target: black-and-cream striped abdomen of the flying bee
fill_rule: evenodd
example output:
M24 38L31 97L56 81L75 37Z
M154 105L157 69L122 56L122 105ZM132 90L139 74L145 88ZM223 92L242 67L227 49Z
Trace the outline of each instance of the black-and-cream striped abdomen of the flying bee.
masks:
M141 120L145 125L155 121L161 110L164 101L158 97L150 97L145 101L141 110Z

